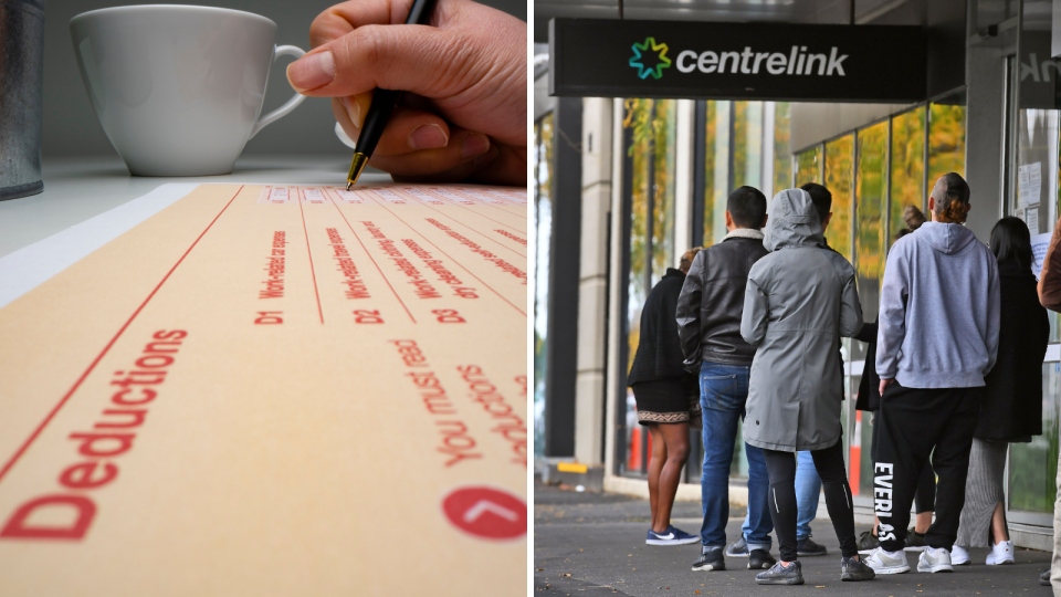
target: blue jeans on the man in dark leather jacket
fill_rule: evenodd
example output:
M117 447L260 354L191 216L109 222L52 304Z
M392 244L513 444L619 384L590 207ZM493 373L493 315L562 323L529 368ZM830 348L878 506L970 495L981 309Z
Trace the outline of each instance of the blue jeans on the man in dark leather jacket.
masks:
M725 547L729 520L729 467L737 425L748 400L750 367L704 363L700 369L700 406L703 411L704 470L700 478L704 524L700 541L704 548ZM763 450L744 444L748 457L748 516L745 534L749 549L769 551L774 521L767 499L770 480Z

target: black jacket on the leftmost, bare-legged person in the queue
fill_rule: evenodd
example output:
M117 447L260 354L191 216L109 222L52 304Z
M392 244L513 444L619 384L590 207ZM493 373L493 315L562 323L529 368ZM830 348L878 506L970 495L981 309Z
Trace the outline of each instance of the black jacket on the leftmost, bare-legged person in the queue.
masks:
M666 269L663 280L652 287L641 310L640 339L627 385L673 377L690 377L682 368L682 347L677 342L674 307L685 274Z

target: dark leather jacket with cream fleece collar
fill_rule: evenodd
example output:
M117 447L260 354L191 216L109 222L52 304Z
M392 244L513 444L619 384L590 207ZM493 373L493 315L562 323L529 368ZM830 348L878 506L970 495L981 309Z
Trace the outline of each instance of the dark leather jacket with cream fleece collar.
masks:
M698 371L703 360L752 364L755 347L740 337L740 316L748 272L767 253L761 238L727 235L696 254L677 300L686 368Z

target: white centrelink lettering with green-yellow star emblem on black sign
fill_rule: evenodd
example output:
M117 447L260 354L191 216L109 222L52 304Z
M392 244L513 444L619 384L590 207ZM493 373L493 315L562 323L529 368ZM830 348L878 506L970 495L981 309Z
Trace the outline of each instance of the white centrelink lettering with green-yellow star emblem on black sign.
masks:
M638 69L640 78L659 80L663 76L663 69L671 66L671 59L666 57L669 48L665 43L656 43L655 38L645 38L644 43L634 43L633 57L630 66ZM654 65L645 65L644 59L655 54ZM683 50L674 60L677 72L692 73L700 71L705 74L771 74L771 75L820 75L847 76L843 72L843 61L848 54L840 54L836 46L830 48L828 55L807 52L807 46L794 45L788 54L780 52L755 52L746 46L744 52L694 52Z

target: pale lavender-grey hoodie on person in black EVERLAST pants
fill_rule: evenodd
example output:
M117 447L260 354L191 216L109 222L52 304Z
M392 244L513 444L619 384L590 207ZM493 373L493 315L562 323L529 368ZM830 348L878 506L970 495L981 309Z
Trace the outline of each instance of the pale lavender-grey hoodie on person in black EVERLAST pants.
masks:
M876 373L907 388L973 388L998 354L998 263L968 228L925 222L887 253Z

